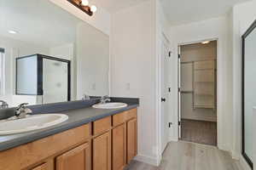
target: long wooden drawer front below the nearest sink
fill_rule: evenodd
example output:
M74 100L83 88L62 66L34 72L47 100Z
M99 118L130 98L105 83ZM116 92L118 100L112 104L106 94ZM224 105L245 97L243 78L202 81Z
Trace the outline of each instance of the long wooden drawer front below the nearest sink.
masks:
M88 139L90 139L90 124L2 151L0 170L24 169Z

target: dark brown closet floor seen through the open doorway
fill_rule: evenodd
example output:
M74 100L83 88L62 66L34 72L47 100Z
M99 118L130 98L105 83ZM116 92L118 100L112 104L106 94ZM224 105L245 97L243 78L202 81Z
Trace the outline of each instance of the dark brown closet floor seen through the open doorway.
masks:
M217 145L217 122L182 119L181 139L199 144Z

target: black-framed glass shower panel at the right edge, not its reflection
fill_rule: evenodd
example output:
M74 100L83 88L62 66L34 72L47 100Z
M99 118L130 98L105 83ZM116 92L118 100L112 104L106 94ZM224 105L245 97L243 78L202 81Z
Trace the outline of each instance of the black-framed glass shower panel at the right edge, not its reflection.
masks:
M242 36L242 155L253 168L253 107L256 106L256 20Z

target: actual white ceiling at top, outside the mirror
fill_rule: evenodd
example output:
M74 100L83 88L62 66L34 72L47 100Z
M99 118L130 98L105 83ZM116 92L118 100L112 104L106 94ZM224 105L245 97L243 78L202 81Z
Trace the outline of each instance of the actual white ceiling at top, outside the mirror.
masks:
M109 13L129 8L146 0L89 0ZM171 25L207 20L227 14L233 5L248 0L160 0Z

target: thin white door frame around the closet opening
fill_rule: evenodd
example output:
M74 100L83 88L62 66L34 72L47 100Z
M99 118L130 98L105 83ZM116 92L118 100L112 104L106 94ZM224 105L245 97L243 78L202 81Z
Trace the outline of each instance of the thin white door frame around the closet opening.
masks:
M222 67L219 65L219 63L221 62L220 57L219 57L219 40L218 37L213 37L213 38L207 38L207 39L202 39L202 40L196 40L196 41L192 41L192 42L181 42L177 44L177 134L178 134L178 139L179 140L181 138L181 100L180 100L180 80L181 80L181 74L180 74L180 66L181 66L181 59L179 59L180 53L181 53L181 49L180 47L183 45L189 45L189 44L193 44L193 43L199 43L199 42L205 42L205 41L216 41L217 42L217 56L216 56L216 60L217 60L217 83L216 83L216 91L217 91L217 106L216 106L216 113L217 113L217 147L219 147L220 143L221 143L221 127L222 127L222 123L221 123L221 113L220 113L220 103L222 102L222 100L220 99L220 93L221 92L221 72L223 71ZM220 70L220 71L219 71Z

